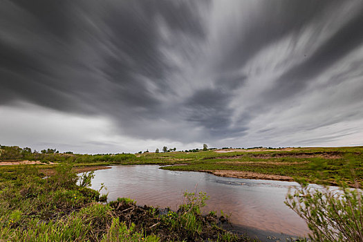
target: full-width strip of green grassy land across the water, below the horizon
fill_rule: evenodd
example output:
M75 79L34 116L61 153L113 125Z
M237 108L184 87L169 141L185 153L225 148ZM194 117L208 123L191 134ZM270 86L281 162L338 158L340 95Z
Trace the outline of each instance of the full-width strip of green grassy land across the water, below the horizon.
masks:
M6 151L6 152L5 152ZM195 151L195 150L194 150ZM162 169L207 171L218 176L272 180L306 179L310 183L339 185L363 182L363 147L314 147L283 149L221 149L196 152L79 155L28 153L19 147L3 147L0 165L8 159L72 163L75 167L102 165L172 165ZM7 159L4 159L7 158ZM12 169L5 166L0 169ZM54 165L44 165L53 169Z

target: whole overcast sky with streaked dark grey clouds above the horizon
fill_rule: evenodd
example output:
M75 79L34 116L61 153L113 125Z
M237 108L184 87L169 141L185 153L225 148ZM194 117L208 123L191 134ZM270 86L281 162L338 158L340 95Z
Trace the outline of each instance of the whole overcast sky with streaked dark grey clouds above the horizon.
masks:
M1 1L0 144L363 145L363 1Z

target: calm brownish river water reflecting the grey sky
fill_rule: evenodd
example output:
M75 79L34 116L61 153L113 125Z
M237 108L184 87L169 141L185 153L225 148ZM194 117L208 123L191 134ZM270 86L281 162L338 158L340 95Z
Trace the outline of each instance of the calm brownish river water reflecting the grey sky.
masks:
M128 197L138 205L170 207L177 210L183 193L203 191L210 199L205 211L231 214L234 230L271 241L307 236L306 223L284 203L288 189L297 183L276 180L225 178L195 171L167 171L157 165L113 166L95 171L92 188L107 187L108 200Z

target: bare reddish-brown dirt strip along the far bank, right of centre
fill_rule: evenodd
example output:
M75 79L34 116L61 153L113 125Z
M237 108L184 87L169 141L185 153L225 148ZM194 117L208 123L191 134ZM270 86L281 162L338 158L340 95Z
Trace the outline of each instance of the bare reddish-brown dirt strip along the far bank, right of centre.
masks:
M280 176L272 174L260 174L252 171L230 171L230 170L216 170L216 171L205 171L216 176L243 178L243 179L259 179L259 180L285 180L294 181L290 176Z

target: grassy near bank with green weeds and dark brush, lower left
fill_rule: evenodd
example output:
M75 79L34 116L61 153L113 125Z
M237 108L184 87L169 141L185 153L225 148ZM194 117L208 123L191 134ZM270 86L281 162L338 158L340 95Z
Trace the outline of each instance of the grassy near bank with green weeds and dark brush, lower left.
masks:
M92 172L77 176L58 165L0 169L0 241L248 241L222 230L215 212L202 216L205 194L186 193L176 212L138 207L128 198L111 203L88 186Z

